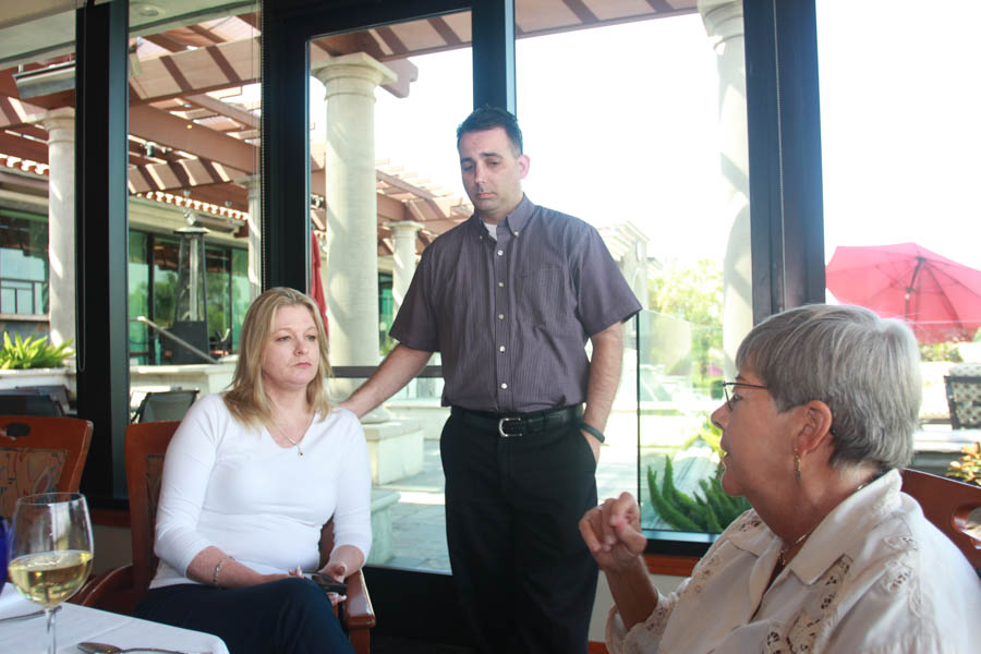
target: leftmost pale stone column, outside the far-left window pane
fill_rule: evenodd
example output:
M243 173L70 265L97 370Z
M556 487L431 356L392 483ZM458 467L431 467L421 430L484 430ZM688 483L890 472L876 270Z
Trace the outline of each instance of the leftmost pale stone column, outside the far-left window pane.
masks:
M75 110L45 113L48 131L48 306L51 342L75 338Z

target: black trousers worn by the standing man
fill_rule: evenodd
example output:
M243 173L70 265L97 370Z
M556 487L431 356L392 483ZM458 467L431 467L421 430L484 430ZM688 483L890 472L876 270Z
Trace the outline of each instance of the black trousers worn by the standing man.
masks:
M501 438L450 415L440 440L453 583L485 654L585 654L598 568L579 533L596 461L576 422Z

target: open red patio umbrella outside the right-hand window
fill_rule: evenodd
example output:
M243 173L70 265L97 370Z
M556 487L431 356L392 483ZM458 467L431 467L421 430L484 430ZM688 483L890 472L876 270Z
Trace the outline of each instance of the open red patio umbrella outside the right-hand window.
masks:
M971 340L981 327L981 270L916 243L840 245L825 279L838 301L904 318L921 343Z

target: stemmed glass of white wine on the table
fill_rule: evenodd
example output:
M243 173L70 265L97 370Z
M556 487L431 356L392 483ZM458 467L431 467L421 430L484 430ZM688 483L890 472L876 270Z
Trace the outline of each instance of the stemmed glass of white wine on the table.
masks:
M92 520L85 496L45 493L17 499L10 535L10 581L44 606L48 654L55 654L55 609L74 595L92 570Z

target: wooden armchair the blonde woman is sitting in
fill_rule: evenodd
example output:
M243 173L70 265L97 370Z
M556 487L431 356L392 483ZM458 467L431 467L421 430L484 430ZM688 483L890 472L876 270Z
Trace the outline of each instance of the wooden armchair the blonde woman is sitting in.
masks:
M143 594L157 571L154 554L154 532L157 521L157 500L164 474L167 445L180 421L134 423L126 427L125 464L126 488L130 493L130 533L133 562L107 570L93 579L70 600L75 604L104 610L133 615ZM334 521L320 530L320 564L327 562L334 546ZM354 651L371 652L371 629L375 614L361 571L347 579L347 601L338 605L341 619Z

